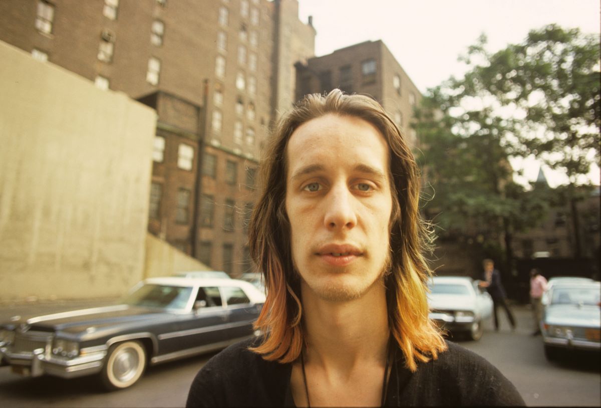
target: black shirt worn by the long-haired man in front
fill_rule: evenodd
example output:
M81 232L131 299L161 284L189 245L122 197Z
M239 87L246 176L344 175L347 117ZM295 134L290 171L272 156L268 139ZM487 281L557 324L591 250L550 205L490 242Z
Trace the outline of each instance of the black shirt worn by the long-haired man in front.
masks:
M254 340L257 341L256 339ZM291 364L263 360L248 350L253 340L212 357L192 382L187 407L294 406ZM513 384L483 357L447 342L437 360L404 368L395 350L385 406L524 406Z

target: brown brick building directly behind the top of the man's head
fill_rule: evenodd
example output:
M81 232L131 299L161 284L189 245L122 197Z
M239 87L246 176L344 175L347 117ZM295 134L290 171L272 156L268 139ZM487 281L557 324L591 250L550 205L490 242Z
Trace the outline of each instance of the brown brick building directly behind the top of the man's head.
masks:
M296 63L296 99L308 93L324 93L340 88L346 93L365 93L374 97L397 123L411 146L416 146L410 128L413 107L421 93L381 41L367 41L332 54Z

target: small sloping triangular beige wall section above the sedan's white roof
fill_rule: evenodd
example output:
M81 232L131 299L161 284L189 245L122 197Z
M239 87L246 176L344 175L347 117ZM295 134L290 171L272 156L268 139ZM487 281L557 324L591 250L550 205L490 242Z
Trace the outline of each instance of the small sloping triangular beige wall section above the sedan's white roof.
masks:
M146 236L146 263L144 277L170 276L184 271L210 271L211 268L175 249L165 241L148 233Z

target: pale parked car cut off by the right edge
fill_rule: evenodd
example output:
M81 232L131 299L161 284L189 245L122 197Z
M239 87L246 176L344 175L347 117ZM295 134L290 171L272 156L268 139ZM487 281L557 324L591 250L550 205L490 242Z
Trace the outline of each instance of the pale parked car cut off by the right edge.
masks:
M540 328L548 360L564 350L601 350L600 292L595 281L566 280L548 289Z

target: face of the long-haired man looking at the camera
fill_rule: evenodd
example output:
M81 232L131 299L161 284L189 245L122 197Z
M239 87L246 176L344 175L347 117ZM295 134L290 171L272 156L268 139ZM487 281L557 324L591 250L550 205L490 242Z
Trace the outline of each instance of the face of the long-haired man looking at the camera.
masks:
M361 297L389 259L386 141L365 120L327 114L299 126L286 153L285 207L302 286L325 300Z

